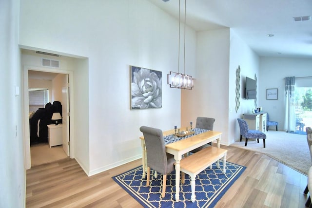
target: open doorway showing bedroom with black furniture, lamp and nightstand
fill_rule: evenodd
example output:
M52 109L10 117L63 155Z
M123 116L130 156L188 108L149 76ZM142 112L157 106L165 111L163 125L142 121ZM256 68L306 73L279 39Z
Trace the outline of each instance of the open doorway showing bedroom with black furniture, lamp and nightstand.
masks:
M68 74L28 70L32 167L69 156L67 116L62 116L68 112L68 83ZM56 120L59 125L55 125L56 121L52 119L58 113L63 119ZM50 133L51 141L48 139Z

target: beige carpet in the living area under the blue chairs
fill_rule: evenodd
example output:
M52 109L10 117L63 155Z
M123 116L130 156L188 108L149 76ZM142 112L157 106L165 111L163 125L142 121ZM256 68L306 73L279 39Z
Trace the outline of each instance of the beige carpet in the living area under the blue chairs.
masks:
M266 148L263 148L263 140L259 143L255 140L248 140L245 147L245 139L235 142L230 146L243 148L251 151L264 153L273 159L307 175L311 167L311 156L307 143L307 135L286 133L283 131L270 130L266 132Z

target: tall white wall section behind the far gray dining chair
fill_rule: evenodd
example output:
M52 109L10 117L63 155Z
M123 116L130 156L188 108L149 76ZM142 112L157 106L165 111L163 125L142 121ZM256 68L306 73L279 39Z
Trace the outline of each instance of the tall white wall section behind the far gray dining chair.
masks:
M221 143L228 144L229 93L228 28L198 32L196 76L193 90L181 91L181 125L195 124L196 117L214 117L214 130L223 132Z

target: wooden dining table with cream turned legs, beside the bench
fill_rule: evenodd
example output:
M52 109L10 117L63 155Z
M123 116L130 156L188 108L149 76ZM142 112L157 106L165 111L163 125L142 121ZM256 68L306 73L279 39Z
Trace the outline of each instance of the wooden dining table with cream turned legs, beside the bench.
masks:
M180 131L184 131L186 128L180 128ZM175 130L168 130L163 132L163 136L168 136L174 134ZM222 132L216 131L207 131L198 133L196 135L190 135L187 138L181 138L179 141L175 141L169 144L166 144L166 152L173 154L176 160L176 202L179 201L179 191L180 191L180 160L182 156L189 151L192 151L198 147L201 147L209 142L215 141L217 144L217 148L220 148L220 140L221 140ZM144 137L141 136L141 147L142 147L142 168L143 168L143 175L142 177L145 178L147 167L146 167L146 147L144 142ZM217 162L219 163L219 162ZM217 164L218 166L219 164Z

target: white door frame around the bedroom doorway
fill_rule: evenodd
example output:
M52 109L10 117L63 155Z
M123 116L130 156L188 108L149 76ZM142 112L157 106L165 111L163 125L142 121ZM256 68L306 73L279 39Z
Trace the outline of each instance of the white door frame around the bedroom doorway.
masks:
M25 168L31 168L31 155L30 155L30 132L29 132L29 98L28 98L28 71L41 71L58 74L67 74L69 76L69 113L70 122L69 135L70 135L70 158L75 158L75 137L74 137L74 72L70 70L61 70L55 68L37 67L24 65L23 66L23 120L24 120L24 155L25 155Z

